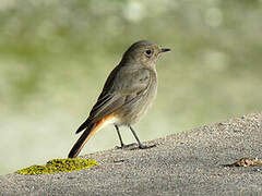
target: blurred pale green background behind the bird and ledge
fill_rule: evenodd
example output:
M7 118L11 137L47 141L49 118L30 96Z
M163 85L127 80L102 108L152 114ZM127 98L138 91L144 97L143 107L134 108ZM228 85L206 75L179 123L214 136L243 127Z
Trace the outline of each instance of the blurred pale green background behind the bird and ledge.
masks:
M141 140L260 112L261 35L262 0L0 0L0 174L67 157L106 76L140 39L172 49L134 126ZM82 155L118 144L109 126Z

